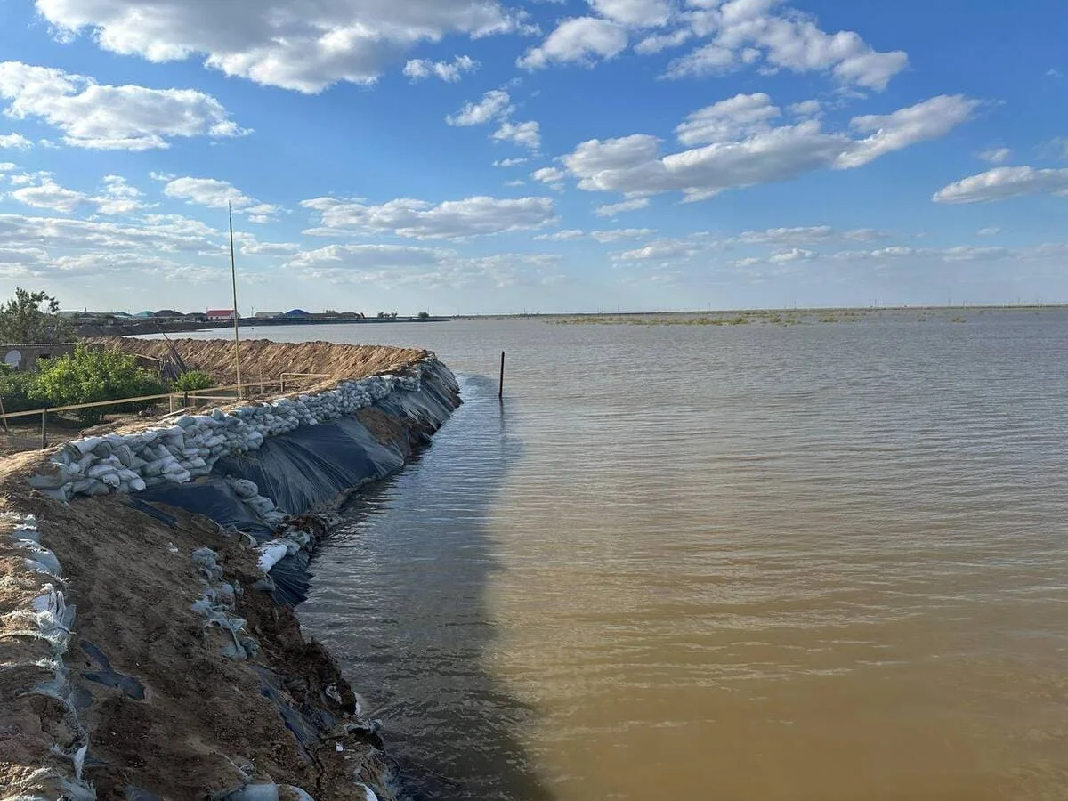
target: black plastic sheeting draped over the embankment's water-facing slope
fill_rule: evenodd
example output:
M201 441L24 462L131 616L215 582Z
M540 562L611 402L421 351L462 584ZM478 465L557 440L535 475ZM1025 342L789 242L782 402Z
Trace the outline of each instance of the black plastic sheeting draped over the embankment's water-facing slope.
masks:
M441 387L441 382L452 380L451 376L439 375L441 370L435 366L424 373L421 391L395 390L374 408L436 429L455 406ZM429 435L414 429L412 438L410 445L429 441ZM234 493L227 478L247 478L282 512L301 515L329 503L344 490L383 478L402 467L404 453L399 447L378 442L357 418L341 418L269 437L258 451L219 459L210 475L185 484L150 487L130 503L161 520L168 516L151 504L170 504L265 541L271 538L271 525L260 520ZM307 551L298 551L274 565L270 579L277 602L295 607L307 599L312 578L310 560Z

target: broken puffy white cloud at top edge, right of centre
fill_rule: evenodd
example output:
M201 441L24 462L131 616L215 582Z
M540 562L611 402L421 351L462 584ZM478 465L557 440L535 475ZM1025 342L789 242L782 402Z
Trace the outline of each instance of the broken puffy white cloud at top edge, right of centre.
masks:
M778 0L732 0L692 3L685 16L689 29L711 41L677 59L668 77L714 75L755 64L765 70L830 73L839 83L881 91L908 64L895 50L878 52L853 31L829 34L815 19L783 7Z

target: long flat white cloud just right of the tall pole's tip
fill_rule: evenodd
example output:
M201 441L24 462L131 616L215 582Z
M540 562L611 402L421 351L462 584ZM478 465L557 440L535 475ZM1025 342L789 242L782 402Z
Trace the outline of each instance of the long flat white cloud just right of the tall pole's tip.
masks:
M355 229L417 239L460 239L508 231L533 231L556 219L549 198L475 197L437 205L399 198L379 206L316 198L300 205L318 211L321 227L328 230Z

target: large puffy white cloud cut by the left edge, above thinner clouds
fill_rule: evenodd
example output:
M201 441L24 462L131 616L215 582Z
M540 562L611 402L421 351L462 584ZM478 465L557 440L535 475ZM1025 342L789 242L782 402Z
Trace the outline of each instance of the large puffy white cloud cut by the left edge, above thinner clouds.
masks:
M222 105L191 89L110 87L62 69L17 61L0 63L0 98L16 120L40 119L63 131L63 141L94 150L169 147L175 137L236 137Z

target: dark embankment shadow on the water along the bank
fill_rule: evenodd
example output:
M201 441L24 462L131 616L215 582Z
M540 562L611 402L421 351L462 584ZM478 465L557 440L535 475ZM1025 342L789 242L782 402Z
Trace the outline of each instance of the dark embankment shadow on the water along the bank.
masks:
M521 442L493 381L398 475L356 496L313 563L304 628L380 718L417 799L548 801L521 744L536 712L487 670L494 504Z

